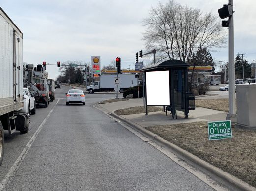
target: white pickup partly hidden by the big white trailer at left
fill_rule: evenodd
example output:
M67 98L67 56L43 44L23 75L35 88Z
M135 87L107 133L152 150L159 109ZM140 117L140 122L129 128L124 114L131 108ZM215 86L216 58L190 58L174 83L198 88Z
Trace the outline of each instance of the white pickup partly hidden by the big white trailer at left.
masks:
M24 97L24 109L28 107L29 114L36 113L36 106L35 106L35 98L33 97L32 93L28 88L23 88L23 97Z

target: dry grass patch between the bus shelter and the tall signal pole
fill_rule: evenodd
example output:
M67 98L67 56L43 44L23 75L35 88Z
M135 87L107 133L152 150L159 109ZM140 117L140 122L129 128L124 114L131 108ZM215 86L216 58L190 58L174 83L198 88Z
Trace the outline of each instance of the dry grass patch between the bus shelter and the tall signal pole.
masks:
M196 99L195 103L196 107L204 107L225 112L228 112L229 110L228 99Z

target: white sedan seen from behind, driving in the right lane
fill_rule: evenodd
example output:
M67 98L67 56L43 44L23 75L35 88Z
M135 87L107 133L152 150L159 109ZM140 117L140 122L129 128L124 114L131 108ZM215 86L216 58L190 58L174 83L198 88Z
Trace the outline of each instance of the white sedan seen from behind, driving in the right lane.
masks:
M82 90L69 90L66 93L66 105L69 105L69 103L82 103L85 105L85 93Z

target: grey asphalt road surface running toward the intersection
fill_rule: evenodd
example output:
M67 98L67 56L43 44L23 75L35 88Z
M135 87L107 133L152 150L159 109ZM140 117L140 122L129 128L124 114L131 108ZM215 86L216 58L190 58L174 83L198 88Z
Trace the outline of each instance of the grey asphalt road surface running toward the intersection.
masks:
M0 190L214 190L92 107L115 94L86 94L85 106L66 106L67 91L56 89L54 102L37 109L28 134L5 134Z

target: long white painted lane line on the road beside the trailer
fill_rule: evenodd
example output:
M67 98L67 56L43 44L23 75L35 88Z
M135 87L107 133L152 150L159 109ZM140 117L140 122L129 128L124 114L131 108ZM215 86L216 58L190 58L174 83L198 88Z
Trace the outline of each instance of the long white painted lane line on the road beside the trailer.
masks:
M29 140L28 144L25 146L25 148L23 149L22 153L20 154L20 156L17 158L17 160L15 161L15 163L13 164L13 166L11 167L11 169L8 171L8 173L6 174L6 176L3 178L2 182L0 183L0 191L4 191L8 184L11 182L14 174L17 172L17 170L19 169L19 167L22 164L22 161L24 160L24 158L26 157L26 155L28 154L28 151L30 149L30 147L32 146L32 144L34 143L36 137L38 136L38 134L40 133L40 131L42 130L44 124L46 123L47 119L50 117L51 113L53 112L54 108L57 106L58 102L60 99L58 99L57 103L55 104L55 106L53 107L53 109L49 112L49 114L46 116L46 118L43 120L43 122L41 123L41 125L38 127L38 129L36 130L36 132L34 133L34 135L32 136L32 138Z

